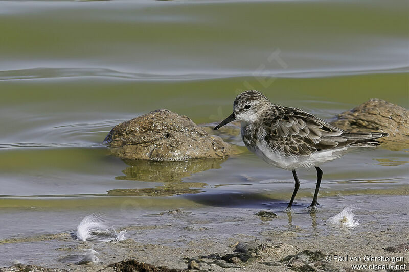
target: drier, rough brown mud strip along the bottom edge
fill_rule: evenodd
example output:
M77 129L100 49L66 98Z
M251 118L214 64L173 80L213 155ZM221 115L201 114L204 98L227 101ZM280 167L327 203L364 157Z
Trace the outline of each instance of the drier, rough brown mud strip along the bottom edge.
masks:
M224 241L201 239L183 247L141 244L128 239L113 245L116 255L132 252L131 259L110 264L69 265L64 268L46 268L33 265L15 265L2 268L11 271L353 271L352 265L378 265L394 269L382 271L407 271L409 251L407 246L391 245L399 239L408 239L409 231L386 228L380 232L367 231L359 237L348 230L342 235L304 237L298 234L271 232L264 240L237 237ZM391 241L393 237L393 241ZM393 253L391 253L393 249ZM112 260L115 256L110 256ZM173 268L170 268L173 267ZM366 270L366 269L364 269ZM368 270L372 270L369 269Z

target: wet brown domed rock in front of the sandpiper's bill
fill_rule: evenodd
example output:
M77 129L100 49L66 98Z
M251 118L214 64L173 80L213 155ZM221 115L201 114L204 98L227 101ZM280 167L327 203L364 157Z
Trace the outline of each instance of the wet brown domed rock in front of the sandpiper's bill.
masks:
M120 123L104 142L113 147L112 155L130 160L216 159L232 152L220 137L210 136L189 117L166 109Z

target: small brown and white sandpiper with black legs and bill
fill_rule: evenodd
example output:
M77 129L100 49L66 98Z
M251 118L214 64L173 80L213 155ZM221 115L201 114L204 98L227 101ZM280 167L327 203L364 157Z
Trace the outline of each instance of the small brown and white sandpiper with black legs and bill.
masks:
M214 130L239 120L241 138L248 150L265 162L292 171L296 182L287 210L291 209L300 181L296 169L315 167L317 181L309 209L315 210L323 171L320 165L335 160L356 147L379 145L375 139L388 136L383 132L348 132L301 109L271 103L256 90L239 94L233 113Z

